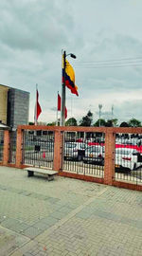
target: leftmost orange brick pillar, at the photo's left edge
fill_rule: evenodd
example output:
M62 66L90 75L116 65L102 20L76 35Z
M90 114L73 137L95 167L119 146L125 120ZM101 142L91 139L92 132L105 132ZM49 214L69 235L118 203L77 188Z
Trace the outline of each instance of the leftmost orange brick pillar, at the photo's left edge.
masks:
M9 131L4 131L3 165L9 163Z

